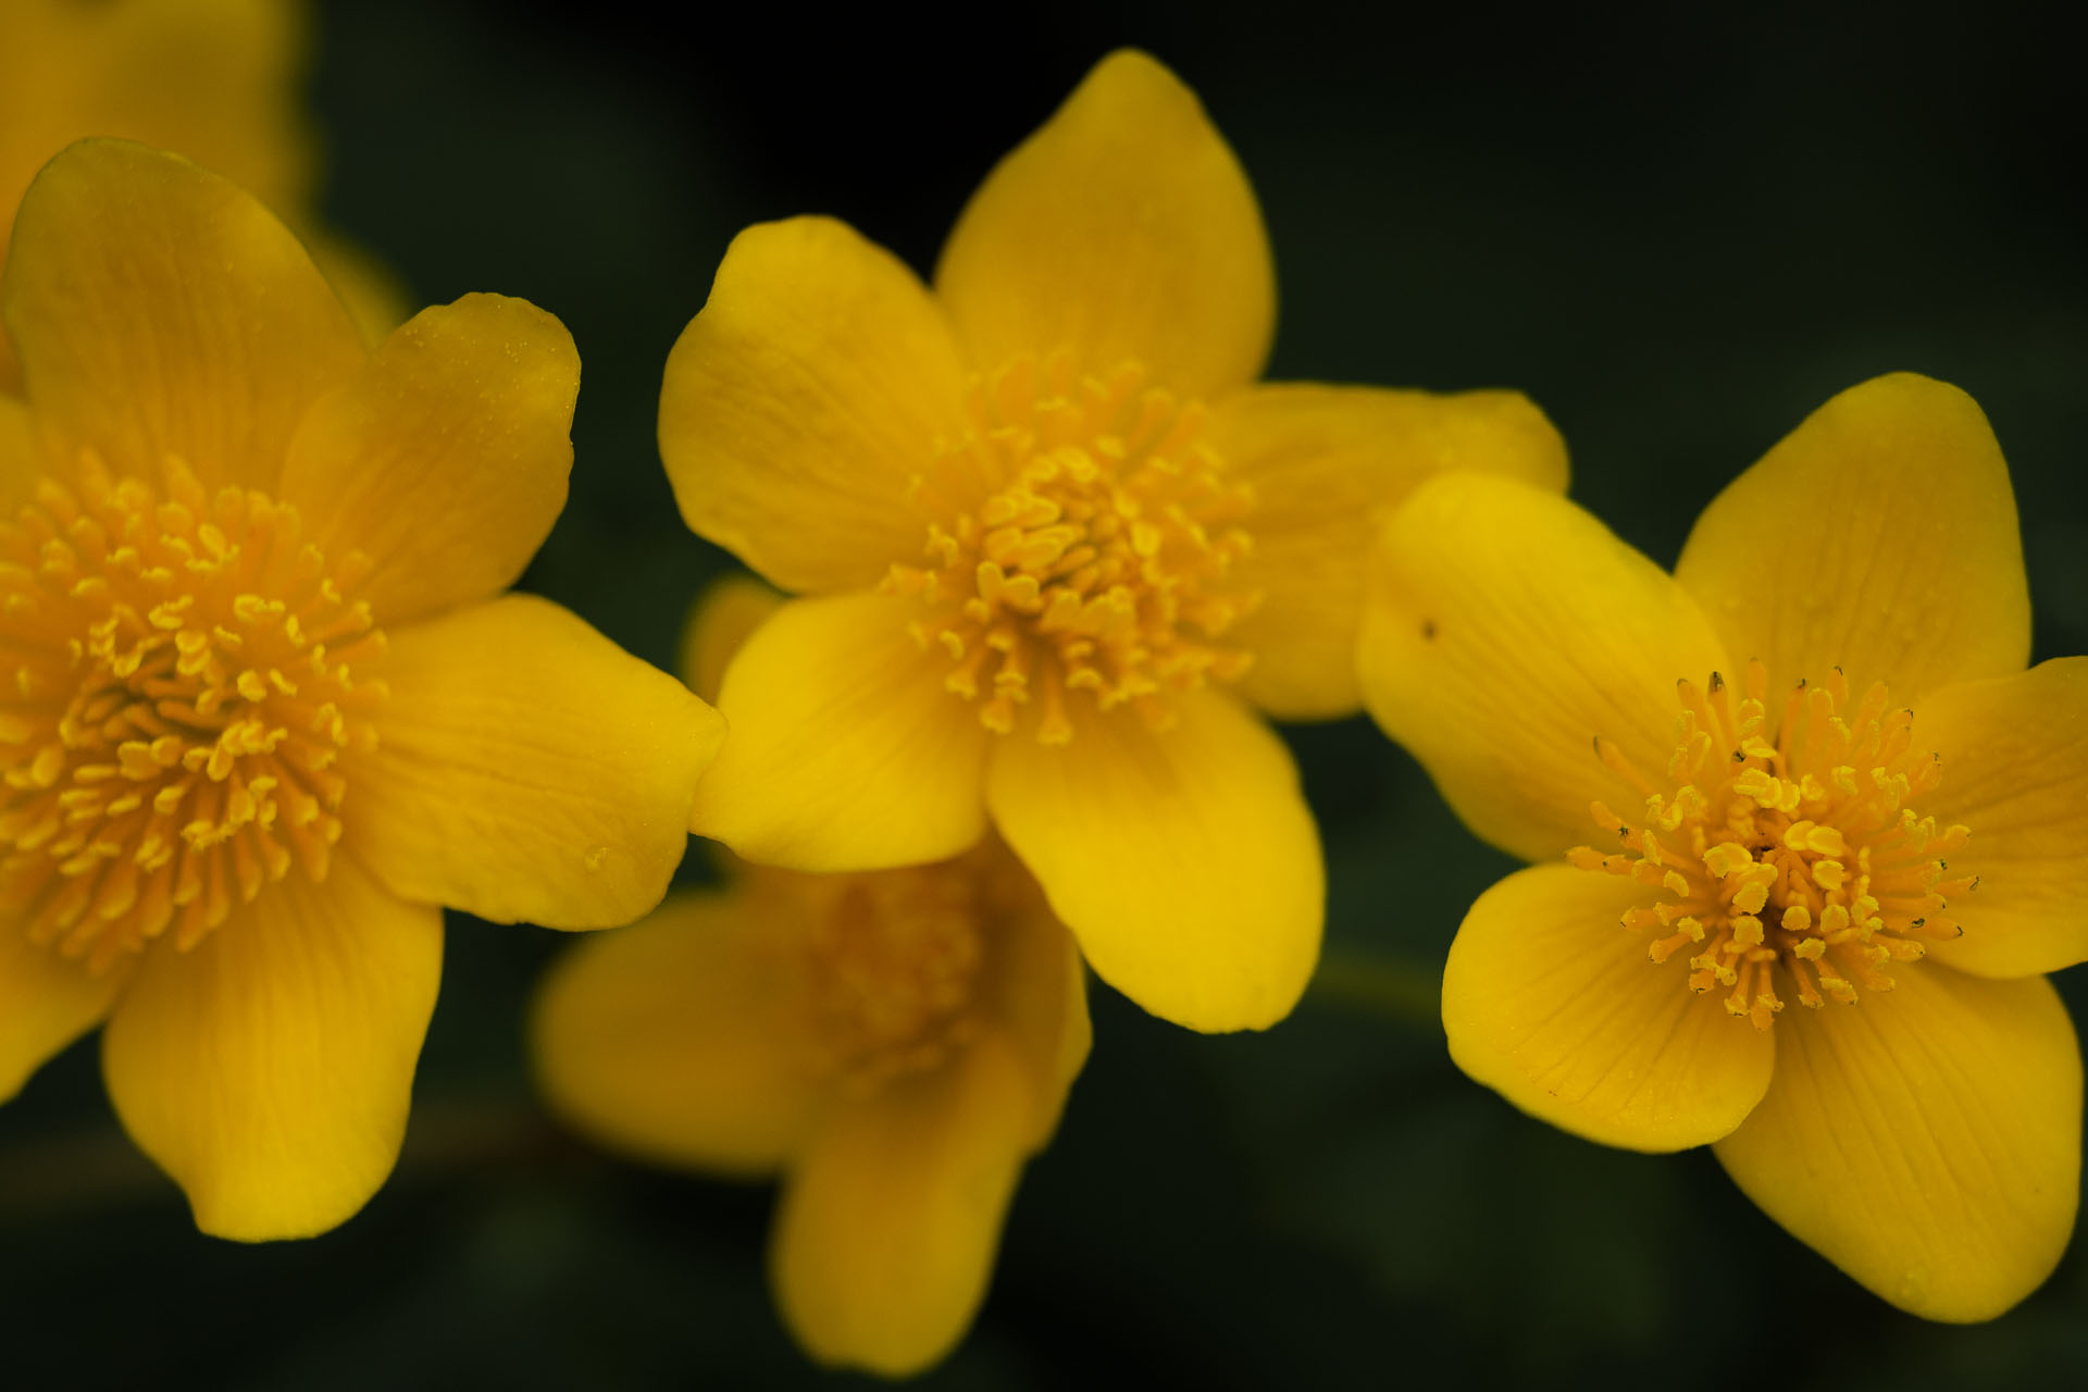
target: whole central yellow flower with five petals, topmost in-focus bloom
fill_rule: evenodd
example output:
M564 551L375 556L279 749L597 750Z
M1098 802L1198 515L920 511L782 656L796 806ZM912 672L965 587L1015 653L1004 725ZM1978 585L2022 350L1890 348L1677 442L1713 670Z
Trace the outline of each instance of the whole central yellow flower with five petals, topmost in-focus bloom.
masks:
M1512 392L1253 378L1253 192L1153 58L1105 58L973 196L933 292L816 217L739 234L674 344L683 518L785 591L691 829L869 870L992 822L1088 962L1196 1029L1318 956L1320 843L1253 707L1357 707L1368 513L1443 467L1562 488Z

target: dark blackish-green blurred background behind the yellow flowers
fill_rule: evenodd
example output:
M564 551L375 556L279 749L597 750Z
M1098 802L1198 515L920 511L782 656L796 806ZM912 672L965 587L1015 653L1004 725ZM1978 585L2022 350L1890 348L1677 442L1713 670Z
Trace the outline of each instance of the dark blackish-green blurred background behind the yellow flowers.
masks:
M1071 0L685 6L662 29L620 0L338 0L309 90L324 209L416 305L503 290L572 328L572 505L524 586L660 664L727 566L654 449L660 367L727 240L825 211L925 271L992 161L1119 44L1203 94L1261 194L1272 376L1518 386L1566 434L1572 493L1664 563L1829 394L1940 376L2013 463L2048 657L2088 651L2088 119L2063 13ZM1290 737L1328 841L1328 977L1280 1029L1221 1039L1096 987L1092 1062L977 1329L923 1386L2088 1379L2082 1244L2004 1319L1923 1325L1706 1152L1587 1146L1468 1083L1434 975L1510 862L1366 722ZM0 1379L827 1382L768 1309L768 1190L606 1158L535 1108L520 1018L560 947L453 916L399 1175L315 1242L194 1235L94 1046L50 1064L0 1108ZM2061 987L2080 1018L2088 987Z

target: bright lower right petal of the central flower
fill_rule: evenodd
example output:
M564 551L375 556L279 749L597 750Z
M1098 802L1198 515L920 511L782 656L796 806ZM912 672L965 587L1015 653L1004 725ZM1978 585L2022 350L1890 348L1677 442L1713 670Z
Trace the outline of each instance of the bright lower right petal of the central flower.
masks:
M1109 985L1178 1025L1263 1029L1320 958L1320 835L1290 751L1226 695L1167 730L1079 707L1067 745L1000 739L994 824Z

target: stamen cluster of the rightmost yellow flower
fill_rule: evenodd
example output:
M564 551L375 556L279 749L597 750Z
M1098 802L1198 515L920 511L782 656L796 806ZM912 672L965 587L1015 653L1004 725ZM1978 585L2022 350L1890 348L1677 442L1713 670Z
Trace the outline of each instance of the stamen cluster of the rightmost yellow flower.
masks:
M1946 879L1944 858L1971 833L1908 806L1942 781L1942 755L1915 747L1915 714L1888 710L1883 682L1854 707L1840 668L1825 685L1798 682L1775 743L1766 685L1750 664L1737 710L1716 672L1708 693L1677 685L1670 791L1597 739L1604 764L1645 797L1645 820L1599 801L1595 820L1637 856L1568 851L1583 870L1664 889L1668 899L1627 910L1624 927L1654 933L1654 962L1693 947L1689 989L1725 989L1725 1008L1756 1029L1783 1010L1779 975L1812 1008L1854 1004L1856 987L1890 991L1888 966L1921 960L1923 939L1963 933L1942 914L1979 885Z

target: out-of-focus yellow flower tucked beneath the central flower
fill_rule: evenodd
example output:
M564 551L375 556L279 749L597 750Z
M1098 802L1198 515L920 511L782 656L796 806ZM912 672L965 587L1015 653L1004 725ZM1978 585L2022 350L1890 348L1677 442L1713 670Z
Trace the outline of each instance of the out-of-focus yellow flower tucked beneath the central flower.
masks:
M687 666L779 599L702 605ZM553 1106L668 1165L783 1171L770 1277L823 1363L892 1377L965 1334L1023 1160L1088 1056L1079 952L988 837L862 874L739 866L568 954L535 1012Z

